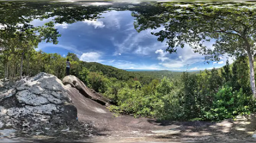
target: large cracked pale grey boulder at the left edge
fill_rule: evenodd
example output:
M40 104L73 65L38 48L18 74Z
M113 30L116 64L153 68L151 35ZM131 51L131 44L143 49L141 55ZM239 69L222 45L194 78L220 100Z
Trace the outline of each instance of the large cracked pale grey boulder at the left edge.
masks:
M23 120L34 124L49 122L51 119L65 122L77 117L76 107L68 95L66 86L56 76L41 72L33 78L2 84L3 86L0 87L2 127L15 126Z

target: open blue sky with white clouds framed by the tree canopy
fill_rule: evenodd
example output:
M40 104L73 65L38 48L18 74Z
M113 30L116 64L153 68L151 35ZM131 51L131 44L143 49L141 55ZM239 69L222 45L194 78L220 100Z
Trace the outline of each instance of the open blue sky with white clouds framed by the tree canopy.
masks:
M194 53L186 45L179 48L177 54L165 52L166 43L157 41L151 35L154 30L148 29L140 33L133 27L134 17L131 11L110 11L103 13L104 18L97 21L84 20L73 24L55 24L62 35L59 43L40 43L37 50L66 56L68 52L78 55L86 62L99 62L120 69L134 70L204 70L225 65L225 56L219 62L207 64L204 56ZM34 20L35 26L51 21ZM161 27L157 30L162 29ZM212 43L206 43L211 48ZM232 59L229 59L232 63Z

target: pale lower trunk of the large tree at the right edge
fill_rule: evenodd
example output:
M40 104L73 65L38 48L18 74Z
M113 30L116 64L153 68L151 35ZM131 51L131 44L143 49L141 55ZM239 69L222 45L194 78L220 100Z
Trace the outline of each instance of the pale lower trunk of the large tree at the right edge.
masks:
M255 88L255 78L254 78L254 64L253 64L253 57L251 56L251 53L248 52L249 57L249 65L250 65L250 83L251 83L251 91L253 93L254 99L256 99L256 88Z

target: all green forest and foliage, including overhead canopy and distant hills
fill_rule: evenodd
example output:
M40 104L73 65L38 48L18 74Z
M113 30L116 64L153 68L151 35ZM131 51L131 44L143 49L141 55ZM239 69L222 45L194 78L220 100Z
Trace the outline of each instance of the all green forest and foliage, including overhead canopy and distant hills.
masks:
M71 62L71 75L100 92L115 103L109 110L134 117L179 121L220 121L247 115L255 110L254 79L255 10L250 3L218 8L211 4L190 7L173 3L143 3L115 6L71 7L66 3L33 3L0 5L0 78L17 80L47 72L62 79L65 61ZM19 3L20 4L20 3ZM180 3L179 3L180 4ZM216 5L226 5L220 3ZM40 8L40 11L37 10ZM223 68L199 73L169 75L165 71L129 72L95 62L80 61L74 53L66 57L36 51L41 42L58 44L61 37L54 24L68 24L84 19L97 19L110 10L130 10L134 29L164 27L151 33L159 42L166 42L167 52L188 45L206 60L219 60L227 54L236 60ZM33 19L54 21L34 27ZM217 19L217 20L216 20ZM213 49L204 46L214 39ZM162 73L161 73L162 72ZM163 76L162 76L163 75Z

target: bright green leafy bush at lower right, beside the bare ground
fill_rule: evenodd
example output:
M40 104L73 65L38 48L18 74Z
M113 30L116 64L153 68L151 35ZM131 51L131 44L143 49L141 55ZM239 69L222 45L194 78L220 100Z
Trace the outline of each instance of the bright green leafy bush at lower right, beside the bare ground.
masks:
M252 107L252 95L244 94L243 89L233 91L232 87L223 86L214 95L213 106L210 111L205 111L204 117L207 120L220 121L234 118L238 114L250 114Z

